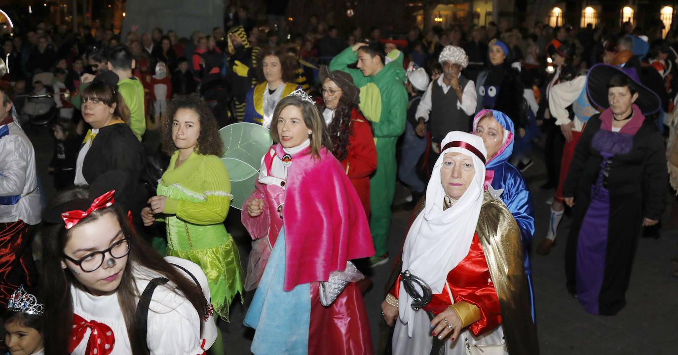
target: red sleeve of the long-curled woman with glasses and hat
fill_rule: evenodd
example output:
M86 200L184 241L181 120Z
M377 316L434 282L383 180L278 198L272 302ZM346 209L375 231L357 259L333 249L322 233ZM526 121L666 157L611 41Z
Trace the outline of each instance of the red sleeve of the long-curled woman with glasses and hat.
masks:
M358 116L359 118L355 118ZM348 150L348 156L342 162L344 170L348 164L346 174L351 179L370 176L377 168L377 149L374 145L374 137L370 124L364 118L353 111L351 120L351 137L348 139L351 149Z

